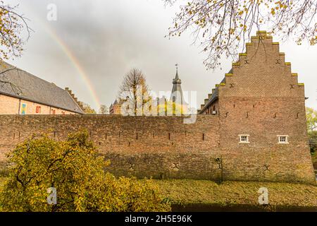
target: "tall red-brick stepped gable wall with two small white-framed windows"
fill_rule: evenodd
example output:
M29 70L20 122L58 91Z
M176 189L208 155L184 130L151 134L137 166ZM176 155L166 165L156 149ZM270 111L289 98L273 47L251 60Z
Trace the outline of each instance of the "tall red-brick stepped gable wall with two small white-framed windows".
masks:
M275 174L313 182L304 85L285 64L278 43L258 33L232 68L219 86L220 148L232 155L228 164L235 157L241 161L228 177L269 179ZM248 134L250 143L239 143L240 134ZM278 135L289 136L289 144L279 144Z

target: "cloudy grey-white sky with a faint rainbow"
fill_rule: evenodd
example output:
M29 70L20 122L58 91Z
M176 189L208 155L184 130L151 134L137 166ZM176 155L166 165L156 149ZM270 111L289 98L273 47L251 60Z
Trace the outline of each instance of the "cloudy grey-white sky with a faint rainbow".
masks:
M170 91L175 64L182 90L197 91L197 108L216 83L230 70L232 60L223 58L222 69L207 71L201 47L192 44L190 32L168 39L168 28L179 6L162 0L7 0L19 4L18 12L34 30L22 57L10 64L39 78L69 87L75 96L98 110L111 105L120 83L130 69L141 69L151 90ZM57 20L48 20L48 6L56 6ZM280 40L274 39L274 42ZM317 109L317 46L280 43L292 72L305 83L306 106Z

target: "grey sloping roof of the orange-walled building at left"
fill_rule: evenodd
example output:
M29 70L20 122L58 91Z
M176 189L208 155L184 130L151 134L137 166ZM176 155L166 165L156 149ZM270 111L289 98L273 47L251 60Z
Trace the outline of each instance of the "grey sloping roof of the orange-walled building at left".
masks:
M0 73L2 73L0 74L1 81L9 82L0 82L0 94L84 114L68 91L59 88L54 83L44 81L4 61L0 61ZM10 83L14 86L12 87Z

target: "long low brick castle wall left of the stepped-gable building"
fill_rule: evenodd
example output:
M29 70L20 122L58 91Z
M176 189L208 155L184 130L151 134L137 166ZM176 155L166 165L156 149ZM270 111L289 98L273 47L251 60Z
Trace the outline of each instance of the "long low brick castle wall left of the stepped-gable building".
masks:
M195 124L183 117L8 116L0 115L0 160L32 133L63 140L87 129L99 152L111 160L116 175L218 179L218 117L199 116Z

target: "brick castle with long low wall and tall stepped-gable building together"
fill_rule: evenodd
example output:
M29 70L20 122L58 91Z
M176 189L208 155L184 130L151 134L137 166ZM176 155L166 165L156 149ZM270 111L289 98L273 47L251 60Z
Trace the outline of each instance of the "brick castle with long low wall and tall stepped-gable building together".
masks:
M266 32L251 37L197 121L184 118L0 115L0 160L32 133L64 139L85 128L118 176L316 184L304 85Z

